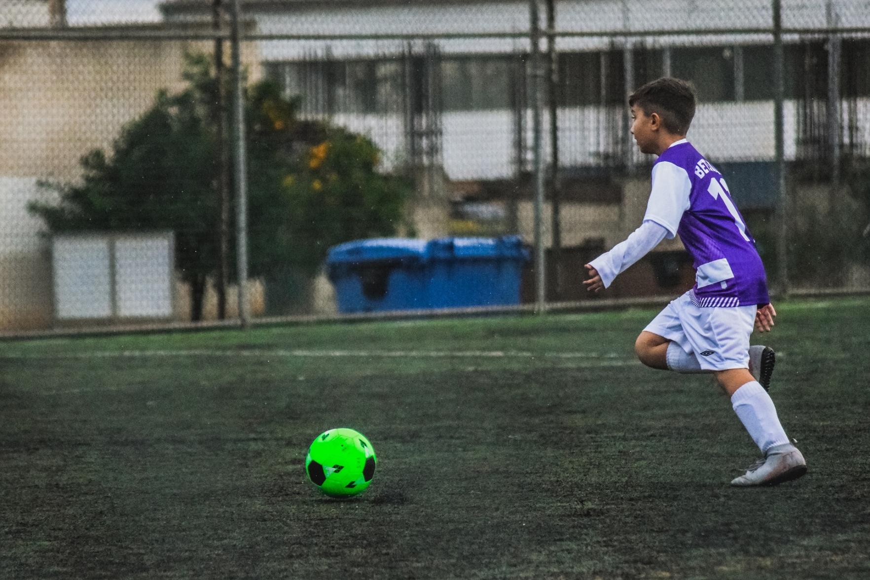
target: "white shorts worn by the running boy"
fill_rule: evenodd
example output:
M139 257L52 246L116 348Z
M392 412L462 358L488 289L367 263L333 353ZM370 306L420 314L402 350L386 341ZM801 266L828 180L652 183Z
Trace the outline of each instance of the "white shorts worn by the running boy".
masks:
M663 336L693 353L704 370L749 367L749 335L756 306L697 307L685 293L672 300L646 332Z

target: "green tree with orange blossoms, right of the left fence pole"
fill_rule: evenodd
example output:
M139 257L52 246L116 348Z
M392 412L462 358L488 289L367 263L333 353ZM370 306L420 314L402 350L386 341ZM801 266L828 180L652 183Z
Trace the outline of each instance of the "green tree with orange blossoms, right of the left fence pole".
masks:
M330 246L349 239L392 235L405 223L408 179L378 171L381 152L357 133L298 120L275 84L251 91L251 267L268 273L291 265L312 275ZM284 240L273 245L275 236Z

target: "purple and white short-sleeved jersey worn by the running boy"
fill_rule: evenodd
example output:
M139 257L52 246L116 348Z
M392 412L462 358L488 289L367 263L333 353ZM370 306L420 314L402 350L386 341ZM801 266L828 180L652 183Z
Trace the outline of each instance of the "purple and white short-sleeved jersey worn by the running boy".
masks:
M653 165L653 191L644 220L679 233L695 267L699 307L767 304L767 280L755 240L731 200L722 174L686 139Z

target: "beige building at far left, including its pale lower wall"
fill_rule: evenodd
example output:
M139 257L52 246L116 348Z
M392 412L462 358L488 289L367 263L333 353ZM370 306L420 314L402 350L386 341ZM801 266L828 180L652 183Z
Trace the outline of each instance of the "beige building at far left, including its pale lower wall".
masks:
M179 40L0 42L0 330L52 325L49 243L27 206L56 194L39 184L80 179L85 153L110 151L157 91L182 86L185 51L210 50ZM178 296L183 318L183 288Z

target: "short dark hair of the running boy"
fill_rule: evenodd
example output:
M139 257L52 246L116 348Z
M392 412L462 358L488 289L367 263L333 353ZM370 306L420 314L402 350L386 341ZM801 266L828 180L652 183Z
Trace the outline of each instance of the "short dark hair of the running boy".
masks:
M695 116L695 87L679 78L657 78L644 84L628 98L628 106L638 105L649 116L659 113L668 132L685 135Z

